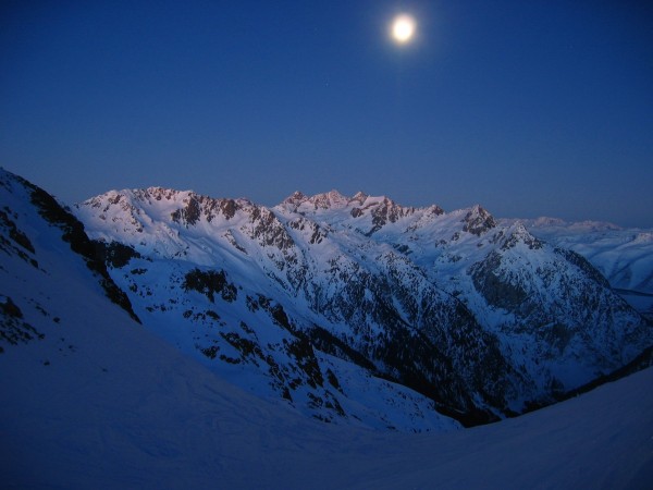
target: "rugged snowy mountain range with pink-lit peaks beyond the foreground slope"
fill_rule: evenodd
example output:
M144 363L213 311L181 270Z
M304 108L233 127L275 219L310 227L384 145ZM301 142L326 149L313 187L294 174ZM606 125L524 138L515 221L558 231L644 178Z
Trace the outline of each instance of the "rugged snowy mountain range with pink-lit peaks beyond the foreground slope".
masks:
M322 419L431 427L414 391L397 411L411 407L408 420L391 415L403 385L486 421L653 344L651 324L581 255L480 206L446 213L332 191L267 208L151 187L74 212L147 328ZM396 384L361 390L360 379Z

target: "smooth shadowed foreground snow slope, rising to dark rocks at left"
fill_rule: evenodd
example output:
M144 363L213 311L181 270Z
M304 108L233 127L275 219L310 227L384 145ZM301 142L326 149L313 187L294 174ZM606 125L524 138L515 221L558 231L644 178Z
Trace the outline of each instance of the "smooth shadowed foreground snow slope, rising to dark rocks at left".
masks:
M213 360L202 355L202 366L139 324L79 223L41 189L2 172L0 211L3 487L643 489L653 478L651 369L467 430L446 430L457 425L443 417L441 430L420 434L371 431L342 417L322 424L246 393ZM103 253L125 260L119 246ZM202 291L222 315L236 301L223 301L233 292L220 283ZM204 297L197 293L202 307ZM350 369L360 381L353 389L367 387L380 403L370 388L380 381L362 381L362 368L332 358L345 367L338 373Z

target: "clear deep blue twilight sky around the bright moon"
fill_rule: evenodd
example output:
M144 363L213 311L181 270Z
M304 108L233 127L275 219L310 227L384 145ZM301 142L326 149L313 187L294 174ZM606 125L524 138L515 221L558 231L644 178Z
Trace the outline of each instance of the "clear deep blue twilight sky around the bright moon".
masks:
M4 0L0 164L69 204L337 188L653 226L645 3Z

